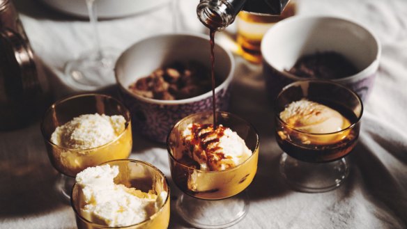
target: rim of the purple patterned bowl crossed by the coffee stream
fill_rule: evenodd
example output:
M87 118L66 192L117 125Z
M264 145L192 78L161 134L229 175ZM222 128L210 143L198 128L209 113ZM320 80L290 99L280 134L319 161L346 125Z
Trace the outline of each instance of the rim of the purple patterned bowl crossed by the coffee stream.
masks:
M126 88L123 83L118 79L118 73L117 73L117 65L119 62L123 61L123 56L125 53L130 52L131 49L134 49L135 46L139 45L142 42L146 42L148 40L154 40L154 39L158 39L158 38L166 38L166 37L191 37L194 39L204 39L204 40L208 40L208 49L209 49L209 35L203 35L201 33L162 33L162 34L158 34L158 35L152 35L152 36L148 36L147 38L144 38L142 40L139 40L137 42L135 42L133 45L131 45L130 47L128 47L127 49L125 49L125 51L122 52L122 54L118 57L116 64L114 66L114 78L116 79L116 83L118 84L119 88L121 88L121 90L123 90L126 94L130 95L132 98L135 98L137 100L141 100L142 102L147 102L147 103L151 103L151 104L159 104L159 105L178 105L178 104L189 104L189 103L193 103L193 102L198 102L200 100L204 100L207 97L211 97L212 96L212 90L203 93L201 95L195 96L195 97L190 97L187 99L183 99L183 100L155 100L155 99L150 99L150 98L146 98L146 97L142 97L141 95L136 95L135 93L132 93L128 90L128 88ZM215 39L216 41L216 39ZM223 47L220 43L215 42L215 47L219 47L220 49L222 49L225 53L226 56L228 56L229 61L231 63L231 67L229 69L229 74L227 74L226 78L224 79L224 81L222 82L222 84L218 85L217 87L215 87L215 93L219 93L220 90L223 90L224 88L227 88L230 84L231 81L234 77L234 73L235 73L235 60L233 58L233 55L231 54L231 52L229 51L229 49L226 49L225 47ZM210 56L208 56L208 59L210 58ZM216 58L215 58L216 61ZM216 65L216 62L215 62Z

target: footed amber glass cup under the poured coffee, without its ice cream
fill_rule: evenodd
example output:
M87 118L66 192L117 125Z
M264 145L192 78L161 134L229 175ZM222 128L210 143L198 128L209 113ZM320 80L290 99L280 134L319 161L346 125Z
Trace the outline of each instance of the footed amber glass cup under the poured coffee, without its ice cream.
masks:
M220 171L204 171L185 163L183 158L183 132L192 123L213 124L213 113L195 113L180 120L169 133L167 149L171 177L183 191L176 210L197 228L226 228L238 223L247 214L249 200L244 192L252 182L259 158L259 136L247 121L231 113L216 113L217 125L236 132L252 154L245 161ZM225 211L226 210L226 211Z

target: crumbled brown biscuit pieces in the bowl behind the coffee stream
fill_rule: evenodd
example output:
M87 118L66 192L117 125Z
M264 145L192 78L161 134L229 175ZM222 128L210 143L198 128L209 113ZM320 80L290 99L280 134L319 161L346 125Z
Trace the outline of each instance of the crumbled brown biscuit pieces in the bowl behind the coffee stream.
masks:
M212 88L210 72L200 63L174 63L129 86L132 93L155 100L183 100Z

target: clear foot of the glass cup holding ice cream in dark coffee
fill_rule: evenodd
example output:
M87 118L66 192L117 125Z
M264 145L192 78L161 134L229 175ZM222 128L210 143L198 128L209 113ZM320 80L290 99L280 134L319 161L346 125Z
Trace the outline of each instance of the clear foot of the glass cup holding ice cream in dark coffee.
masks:
M298 161L285 152L279 161L280 173L292 189L318 193L339 187L349 174L345 158L327 163Z

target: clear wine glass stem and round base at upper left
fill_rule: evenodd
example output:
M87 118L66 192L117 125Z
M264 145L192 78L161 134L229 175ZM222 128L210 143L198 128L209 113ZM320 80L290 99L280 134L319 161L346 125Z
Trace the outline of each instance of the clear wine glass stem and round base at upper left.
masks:
M112 48L102 49L100 46L95 0L85 1L93 30L95 50L93 52L86 52L75 60L68 61L65 65L65 74L72 86L82 90L95 90L114 84L113 69L119 52Z

